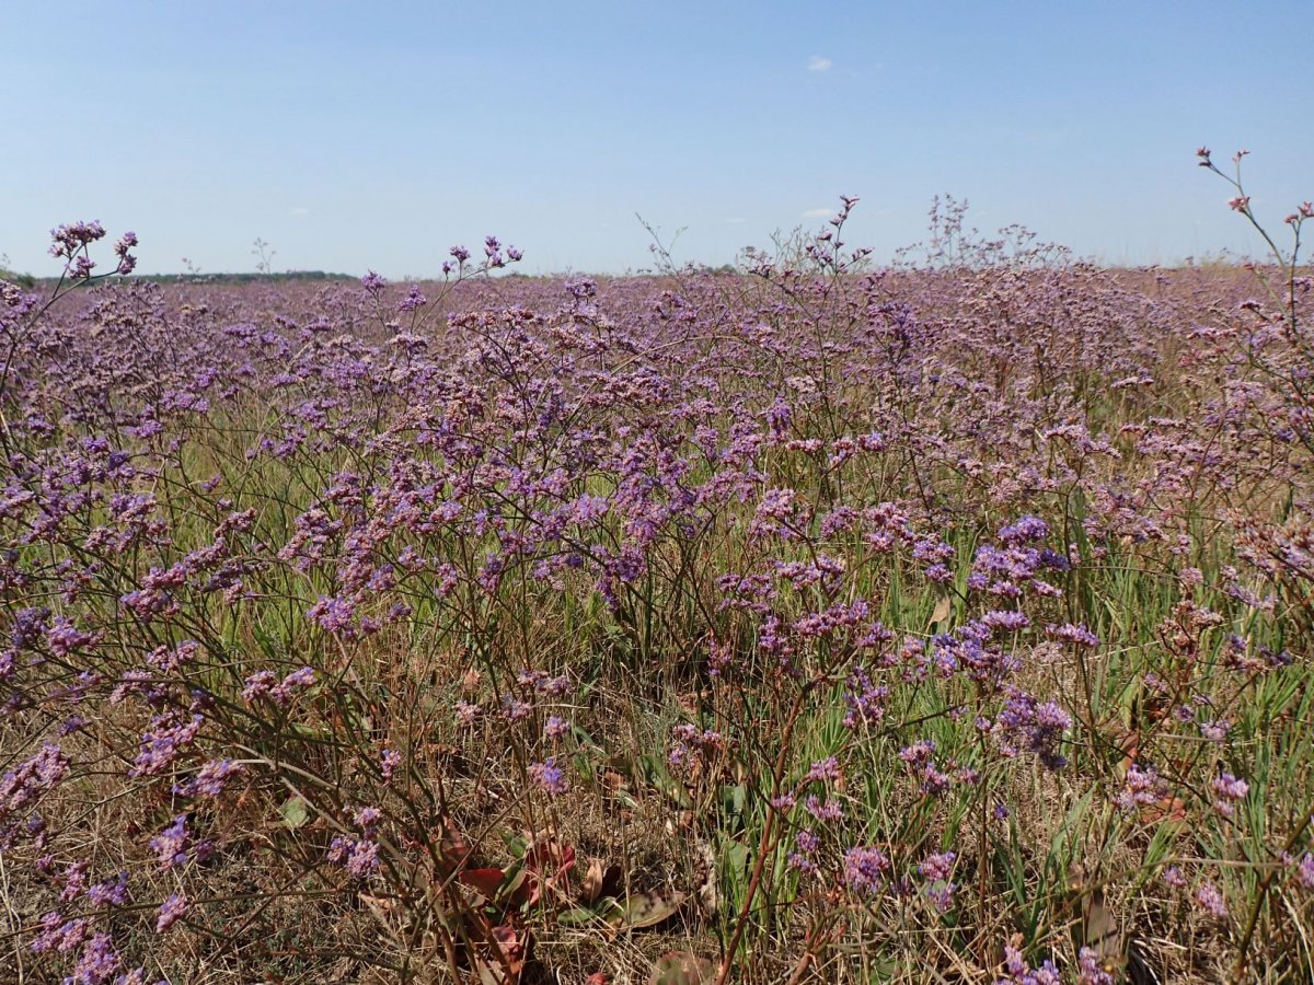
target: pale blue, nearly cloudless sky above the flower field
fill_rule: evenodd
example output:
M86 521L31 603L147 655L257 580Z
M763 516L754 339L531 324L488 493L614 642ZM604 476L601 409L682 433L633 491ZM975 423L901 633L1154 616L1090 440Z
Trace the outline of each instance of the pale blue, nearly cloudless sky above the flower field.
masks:
M38 274L81 218L143 272L248 271L261 238L424 276L489 232L622 272L636 213L720 264L840 194L888 259L945 192L1105 263L1257 252L1198 143L1252 151L1273 225L1314 198L1307 0L4 5L0 253Z

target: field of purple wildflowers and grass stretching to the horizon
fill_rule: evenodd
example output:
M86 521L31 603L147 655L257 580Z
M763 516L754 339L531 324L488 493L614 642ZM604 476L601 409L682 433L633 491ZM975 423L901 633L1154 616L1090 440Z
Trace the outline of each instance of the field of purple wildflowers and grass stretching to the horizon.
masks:
M850 208L598 282L87 288L60 227L0 977L1309 980L1309 278L953 209L867 269Z

